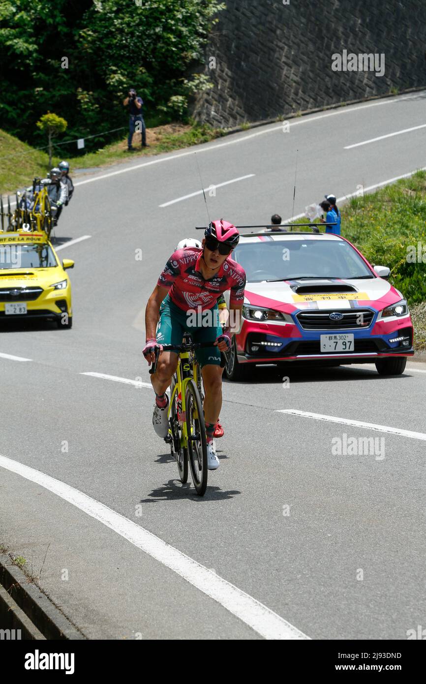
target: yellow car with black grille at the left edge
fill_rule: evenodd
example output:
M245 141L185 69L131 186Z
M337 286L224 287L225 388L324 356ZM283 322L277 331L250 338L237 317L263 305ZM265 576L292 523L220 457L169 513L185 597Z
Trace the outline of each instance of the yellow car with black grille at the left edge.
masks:
M74 261L57 258L46 233L0 231L0 321L43 318L71 328Z

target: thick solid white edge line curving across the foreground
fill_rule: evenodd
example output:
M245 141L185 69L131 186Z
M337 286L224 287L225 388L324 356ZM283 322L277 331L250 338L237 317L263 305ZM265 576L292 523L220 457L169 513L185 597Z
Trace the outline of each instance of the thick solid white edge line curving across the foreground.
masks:
M50 477L29 466L25 466L18 461L0 456L0 466L17 473L30 482L44 487L61 497L68 503L76 506L99 523L102 523L124 539L127 539L144 553L148 553L152 558L159 561L174 573L183 577L192 586L210 596L213 601L217 601L232 615L248 624L258 634L265 639L274 640L305 640L309 639L303 632L299 631L293 624L284 620L279 615L271 611L267 606L256 601L252 596L246 594L235 585L219 577L216 573L204 567L200 563L192 560L185 553L170 546L159 537L133 521L125 518L120 513L112 510L108 506L88 497L74 487Z

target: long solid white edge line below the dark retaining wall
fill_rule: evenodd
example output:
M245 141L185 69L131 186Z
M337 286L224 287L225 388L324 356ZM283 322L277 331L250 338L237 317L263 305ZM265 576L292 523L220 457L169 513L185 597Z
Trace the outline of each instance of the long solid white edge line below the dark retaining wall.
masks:
M419 91L419 94L422 91ZM351 114L351 112L359 111L360 109L368 109L369 107L381 107L382 105L395 105L395 103L401 102L402 100L414 99L416 95L409 94L398 98L386 99L383 102L372 102L369 105L349 105L349 107L341 107L337 111L330 111L328 114L319 114L319 116L307 115L300 120L291 120L292 126L300 126L302 124L310 123L311 121L317 121L319 119L325 119L329 116L339 116L341 114ZM214 144L207 145L205 147L196 148L196 153L210 152L211 150L218 150L221 147L227 147L228 145L235 145L239 142L244 142L245 140L250 140L252 137L257 137L258 135L265 135L265 133L271 133L273 131L281 131L282 123L278 126L270 127L271 124L265 124L267 128L263 128L262 131L256 131L256 133L249 133L248 135L241 135L233 140L227 140L226 142L215 142ZM236 134L235 134L236 135ZM144 161L140 164L135 164L134 166L128 166L125 169L120 169L118 171L111 171L110 173L102 174L102 176L96 176L95 178L85 179L85 181L78 181L74 185L84 185L85 183L94 183L95 181L101 181L104 178L111 178L111 176L117 176L118 174L128 173L129 171L135 171L136 169L143 168L144 166L151 166L152 164L163 163L163 161L172 161L173 159L178 159L179 157L187 157L188 155L194 155L194 148L188 150L187 152L181 152L176 155L170 155L169 157L161 157L161 159L152 159L151 161Z

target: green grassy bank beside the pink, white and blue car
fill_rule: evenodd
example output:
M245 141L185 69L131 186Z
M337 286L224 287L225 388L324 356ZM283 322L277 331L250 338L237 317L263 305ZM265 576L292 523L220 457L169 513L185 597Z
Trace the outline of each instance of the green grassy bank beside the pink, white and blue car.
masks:
M352 198L340 209L343 237L371 264L390 268L390 282L410 304L416 349L426 349L426 172ZM418 243L421 259L411 263Z

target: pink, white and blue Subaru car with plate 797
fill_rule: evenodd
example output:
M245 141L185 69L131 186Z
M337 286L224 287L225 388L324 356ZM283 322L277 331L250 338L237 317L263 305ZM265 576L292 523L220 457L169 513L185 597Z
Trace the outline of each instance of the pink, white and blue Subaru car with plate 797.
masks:
M414 354L403 295L341 235L241 235L232 259L247 283L239 333L226 363L230 380L258 364L375 363L403 373Z

